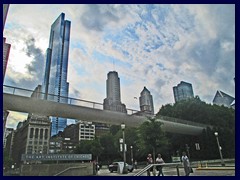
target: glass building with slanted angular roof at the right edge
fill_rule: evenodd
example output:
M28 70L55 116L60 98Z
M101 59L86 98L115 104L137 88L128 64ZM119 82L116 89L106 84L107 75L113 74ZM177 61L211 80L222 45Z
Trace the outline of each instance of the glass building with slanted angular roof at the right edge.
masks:
M213 104L235 109L235 98L218 90L213 98Z

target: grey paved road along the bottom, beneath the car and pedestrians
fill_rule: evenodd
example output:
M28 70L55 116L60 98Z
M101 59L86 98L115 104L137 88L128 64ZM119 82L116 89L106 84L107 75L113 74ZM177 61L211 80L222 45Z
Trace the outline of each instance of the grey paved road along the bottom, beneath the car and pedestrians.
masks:
M141 169L134 170L128 174L118 174L117 172L110 173L108 169L101 169L97 176L133 176ZM193 168L193 173L190 176L235 176L235 170L197 170ZM174 168L164 168L163 173L165 176L177 176L177 171ZM179 169L180 176L184 176L184 170ZM147 176L144 173L142 176Z

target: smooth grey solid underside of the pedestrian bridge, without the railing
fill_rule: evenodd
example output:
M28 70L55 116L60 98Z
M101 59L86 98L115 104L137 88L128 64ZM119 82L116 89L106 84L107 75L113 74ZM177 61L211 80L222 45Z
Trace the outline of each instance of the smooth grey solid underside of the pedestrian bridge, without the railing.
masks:
M125 123L126 126L129 127L138 127L144 121L148 120L145 116L128 115L120 112L63 104L7 93L3 93L3 110L107 123L111 125L120 125L121 123ZM199 135L205 128L163 119L157 120L163 123L162 128L166 132Z

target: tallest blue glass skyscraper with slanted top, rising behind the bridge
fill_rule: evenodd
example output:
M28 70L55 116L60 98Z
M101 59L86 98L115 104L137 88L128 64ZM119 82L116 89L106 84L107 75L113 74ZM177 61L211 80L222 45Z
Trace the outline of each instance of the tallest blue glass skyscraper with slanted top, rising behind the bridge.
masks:
M51 26L49 48L47 49L46 57L46 69L42 85L45 99L61 103L68 102L67 97L69 89L67 69L71 22L64 20L64 18L65 14L61 13ZM66 118L51 117L51 121L51 135L63 131L67 126Z

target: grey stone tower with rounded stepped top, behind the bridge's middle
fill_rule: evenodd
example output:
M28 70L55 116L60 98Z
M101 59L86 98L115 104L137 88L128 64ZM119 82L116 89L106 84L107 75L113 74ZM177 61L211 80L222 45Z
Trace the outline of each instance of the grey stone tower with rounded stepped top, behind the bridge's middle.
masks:
M127 113L125 104L121 103L120 79L116 71L108 73L107 98L104 99L103 109Z

